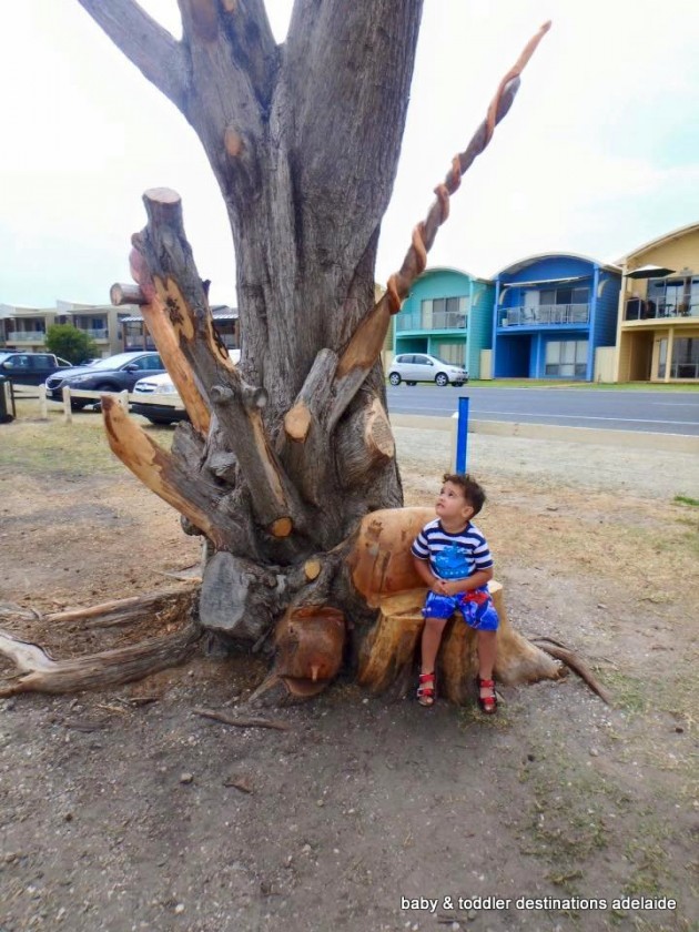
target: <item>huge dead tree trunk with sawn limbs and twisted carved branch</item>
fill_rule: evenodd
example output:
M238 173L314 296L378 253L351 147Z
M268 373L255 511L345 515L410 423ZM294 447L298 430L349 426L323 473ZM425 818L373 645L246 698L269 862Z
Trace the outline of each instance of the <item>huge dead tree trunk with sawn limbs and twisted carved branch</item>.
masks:
M211 543L205 627L273 645L276 675L292 691L317 691L343 662L377 687L387 670L366 672L367 645L385 648L391 638L374 631L363 646L378 602L350 567L362 519L403 502L379 348L534 44L454 160L374 306L422 0L296 0L283 45L262 0L180 0L181 41L133 0L79 2L201 139L237 270L239 367L213 330L179 196L146 192L148 225L132 241L136 300L192 423L168 454L105 397L112 449ZM404 525L394 549L409 546ZM549 673L541 665L539 675Z

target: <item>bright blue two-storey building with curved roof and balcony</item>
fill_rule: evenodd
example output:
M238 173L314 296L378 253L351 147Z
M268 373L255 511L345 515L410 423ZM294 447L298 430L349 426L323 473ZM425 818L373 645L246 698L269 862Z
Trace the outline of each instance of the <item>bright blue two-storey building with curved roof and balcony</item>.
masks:
M493 314L495 378L591 382L595 351L614 346L621 270L550 253L498 273Z

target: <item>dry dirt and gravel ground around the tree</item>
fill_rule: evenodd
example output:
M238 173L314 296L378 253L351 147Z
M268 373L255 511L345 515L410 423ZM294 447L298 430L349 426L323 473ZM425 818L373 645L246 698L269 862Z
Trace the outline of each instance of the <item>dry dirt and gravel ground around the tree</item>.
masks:
M396 437L406 503L432 504L448 435ZM252 708L265 663L203 654L101 693L0 699L0 932L699 929L699 459L661 438L469 445L510 620L577 650L614 705L570 675L500 689L495 719L345 681ZM0 425L0 602L91 605L199 558L97 416ZM142 634L2 625L57 657Z

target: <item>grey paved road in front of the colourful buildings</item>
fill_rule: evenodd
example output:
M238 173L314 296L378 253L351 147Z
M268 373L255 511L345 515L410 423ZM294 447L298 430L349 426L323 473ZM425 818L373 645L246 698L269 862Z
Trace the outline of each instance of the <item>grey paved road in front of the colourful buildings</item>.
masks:
M470 399L470 417L525 424L557 424L615 430L699 436L699 393L605 392L584 388L463 388L387 386L396 414L448 417L459 395Z

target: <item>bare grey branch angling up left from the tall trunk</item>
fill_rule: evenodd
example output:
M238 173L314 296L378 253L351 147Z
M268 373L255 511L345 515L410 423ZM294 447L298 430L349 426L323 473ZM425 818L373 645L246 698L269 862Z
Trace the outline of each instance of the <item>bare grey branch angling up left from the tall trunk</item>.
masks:
M182 44L134 0L78 2L145 78L184 112L188 67Z

